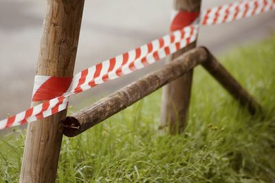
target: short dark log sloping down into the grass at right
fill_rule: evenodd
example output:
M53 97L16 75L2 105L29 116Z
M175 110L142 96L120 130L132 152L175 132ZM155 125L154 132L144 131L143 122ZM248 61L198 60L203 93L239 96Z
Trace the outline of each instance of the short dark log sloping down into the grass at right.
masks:
M254 98L238 83L233 76L217 61L209 52L208 61L202 63L203 67L234 97L241 105L248 107L250 114L261 111L261 106Z

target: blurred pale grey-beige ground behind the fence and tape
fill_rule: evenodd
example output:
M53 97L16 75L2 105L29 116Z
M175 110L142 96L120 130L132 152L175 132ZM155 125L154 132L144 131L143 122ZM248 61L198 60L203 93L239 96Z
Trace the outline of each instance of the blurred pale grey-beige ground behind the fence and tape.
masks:
M232 1L236 0L203 0L202 10ZM45 1L0 0L1 119L30 107L44 9ZM167 34L171 9L170 0L87 0L75 73ZM198 44L219 55L274 32L275 12L266 12L250 19L202 27ZM83 103L106 96L162 65L164 61L72 96L71 105L79 109Z

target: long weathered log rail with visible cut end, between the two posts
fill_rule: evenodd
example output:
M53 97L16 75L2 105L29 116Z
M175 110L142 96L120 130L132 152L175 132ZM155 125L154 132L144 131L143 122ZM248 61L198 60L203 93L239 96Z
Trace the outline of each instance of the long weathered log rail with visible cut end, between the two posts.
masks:
M99 100L94 105L85 107L63 121L65 136L76 136L93 127L102 122L102 120L113 116L113 114L129 107L137 102L137 100L166 85L171 80L189 72L190 69L206 61L207 58L208 52L205 49L197 48L191 50L177 57L175 61L168 63L163 69L159 69L157 72L153 72L153 74L137 80L135 83L107 96L107 98Z

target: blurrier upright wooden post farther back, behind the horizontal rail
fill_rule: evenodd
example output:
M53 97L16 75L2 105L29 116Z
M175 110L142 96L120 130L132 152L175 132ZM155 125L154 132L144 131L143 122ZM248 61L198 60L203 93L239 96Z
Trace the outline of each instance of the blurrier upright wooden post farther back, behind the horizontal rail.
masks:
M186 12L199 12L201 0L174 0L174 8ZM168 58L168 62L194 47L196 47L196 43L179 50ZM171 134L184 131L188 116L191 85L192 70L163 89L160 125L162 127L168 125Z

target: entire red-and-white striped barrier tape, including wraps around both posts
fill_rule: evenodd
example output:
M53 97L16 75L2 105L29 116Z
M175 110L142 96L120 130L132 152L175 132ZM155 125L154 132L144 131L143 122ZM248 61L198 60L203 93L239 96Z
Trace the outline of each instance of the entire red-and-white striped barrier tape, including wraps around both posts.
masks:
M225 23L271 10L275 10L275 0L241 1L203 11L200 24ZM63 111L67 108L69 96L135 72L137 69L142 69L177 52L197 39L199 23L196 22L199 22L198 17L199 14L196 12L174 12L170 27L173 32L170 34L89 67L76 74L74 78L35 76L32 100L46 99L46 101L1 120L0 129L23 125ZM190 25L190 23L195 23L195 25ZM185 25L188 26L185 27Z

